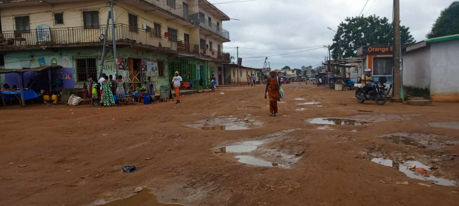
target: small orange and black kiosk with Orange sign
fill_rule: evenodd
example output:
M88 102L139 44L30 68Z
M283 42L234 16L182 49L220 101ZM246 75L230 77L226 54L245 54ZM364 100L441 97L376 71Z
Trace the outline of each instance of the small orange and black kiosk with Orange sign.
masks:
M373 80L385 76L387 81L384 85L391 88L389 94L392 94L393 50L393 46L362 46L357 49L357 56L364 58L358 65L358 76L362 76L367 68L371 70Z

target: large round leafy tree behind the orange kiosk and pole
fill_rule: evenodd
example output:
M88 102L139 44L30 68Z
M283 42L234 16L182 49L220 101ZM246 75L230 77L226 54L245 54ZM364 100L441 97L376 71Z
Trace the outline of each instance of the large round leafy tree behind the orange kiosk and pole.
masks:
M366 45L392 45L394 32L392 22L386 17L356 16L347 17L338 26L338 33L333 38L332 57L336 60L341 51L341 58L355 57L357 48ZM409 27L400 26L400 41L402 45L415 43L409 33ZM338 40L341 40L340 43Z

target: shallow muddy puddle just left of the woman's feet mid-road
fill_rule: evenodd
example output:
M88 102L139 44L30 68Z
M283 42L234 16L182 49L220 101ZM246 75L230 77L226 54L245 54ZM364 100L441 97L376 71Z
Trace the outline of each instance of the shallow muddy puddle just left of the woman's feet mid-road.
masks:
M201 130L248 130L262 126L263 122L256 119L237 118L233 116L218 116L201 119L191 124L185 124Z

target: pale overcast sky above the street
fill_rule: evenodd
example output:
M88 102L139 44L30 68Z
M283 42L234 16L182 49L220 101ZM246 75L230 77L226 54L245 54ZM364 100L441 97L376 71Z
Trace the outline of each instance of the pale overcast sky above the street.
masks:
M239 49L242 65L263 68L264 57L307 50L318 45L332 43L338 24L347 16L358 16L367 0L253 0L240 3L226 3L230 0L209 0L230 18L240 19L223 22L229 31L231 42L224 47L245 47ZM246 1L246 0L239 0ZM425 39L440 12L454 0L401 0L401 25L416 41ZM282 2L282 3L280 3ZM392 0L369 0L362 12L365 16L387 17L392 21ZM293 49L295 50L257 50ZM224 48L236 56L231 48ZM285 65L300 68L302 65L317 65L324 60L327 49L314 49L297 54L268 57L271 68ZM258 60L258 61L256 61Z

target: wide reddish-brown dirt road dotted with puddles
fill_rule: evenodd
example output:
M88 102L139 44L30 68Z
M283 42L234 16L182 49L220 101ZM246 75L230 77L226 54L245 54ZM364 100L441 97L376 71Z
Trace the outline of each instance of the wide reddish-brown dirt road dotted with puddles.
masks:
M458 103L377 106L354 91L284 90L277 117L262 85L181 104L1 108L0 205L99 205L136 187L186 206L457 205L459 130L429 123L458 122ZM407 169L414 161L429 166L418 171L426 177Z

